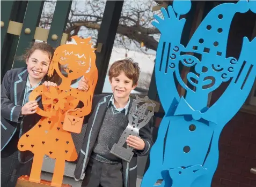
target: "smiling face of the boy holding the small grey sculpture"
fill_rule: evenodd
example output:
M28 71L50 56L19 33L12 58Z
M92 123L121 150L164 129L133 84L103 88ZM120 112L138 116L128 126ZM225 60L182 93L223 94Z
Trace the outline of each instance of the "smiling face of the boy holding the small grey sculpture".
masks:
M137 84L133 85L133 80L129 79L126 74L121 71L120 75L109 79L111 89L116 98L127 98L130 96L131 90L134 90Z

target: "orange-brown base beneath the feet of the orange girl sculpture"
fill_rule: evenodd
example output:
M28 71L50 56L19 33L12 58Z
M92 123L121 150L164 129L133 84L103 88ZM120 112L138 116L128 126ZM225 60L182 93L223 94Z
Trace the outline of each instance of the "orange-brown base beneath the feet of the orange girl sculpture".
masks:
M30 181L30 177L26 176L21 176L18 178L16 187L46 187L46 186L52 186L51 181L46 181L46 180L40 180L40 183L32 182ZM62 184L61 187L72 187L69 184Z

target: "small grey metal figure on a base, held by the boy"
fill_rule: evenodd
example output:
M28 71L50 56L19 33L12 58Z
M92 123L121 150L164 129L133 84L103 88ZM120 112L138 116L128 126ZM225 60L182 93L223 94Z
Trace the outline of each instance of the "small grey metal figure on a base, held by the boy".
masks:
M145 102L143 105L138 107L140 102ZM114 144L110 153L114 154L116 157L121 158L127 162L130 162L131 158L133 158L133 147L126 146L123 147L126 143L126 139L129 135L133 135L138 137L139 130L144 127L150 120L150 118L154 115L154 112L148 112L147 108L155 107L156 104L153 103L148 96L145 98L140 98L136 95L136 100L133 102L130 111L129 111L129 123L126 129L123 131L119 141L117 144ZM138 107L138 108L137 108Z

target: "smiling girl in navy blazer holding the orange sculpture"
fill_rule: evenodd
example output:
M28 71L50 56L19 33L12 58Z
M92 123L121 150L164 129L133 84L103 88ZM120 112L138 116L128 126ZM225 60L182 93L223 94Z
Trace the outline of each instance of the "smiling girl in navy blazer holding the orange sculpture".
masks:
M30 93L48 80L47 72L54 49L46 43L35 43L23 55L27 67L6 72L1 84L1 186L15 186L17 178L29 175L33 154L19 152L21 135L41 118L36 108L40 100L28 102ZM55 84L56 85L56 84Z

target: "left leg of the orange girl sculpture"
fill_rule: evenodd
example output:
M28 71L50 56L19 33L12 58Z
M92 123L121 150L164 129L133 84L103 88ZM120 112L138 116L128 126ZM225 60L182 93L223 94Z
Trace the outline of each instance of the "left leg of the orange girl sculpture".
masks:
M34 154L31 173L30 173L30 181L40 183L41 169L42 169L44 156L45 154L42 154L42 153Z

